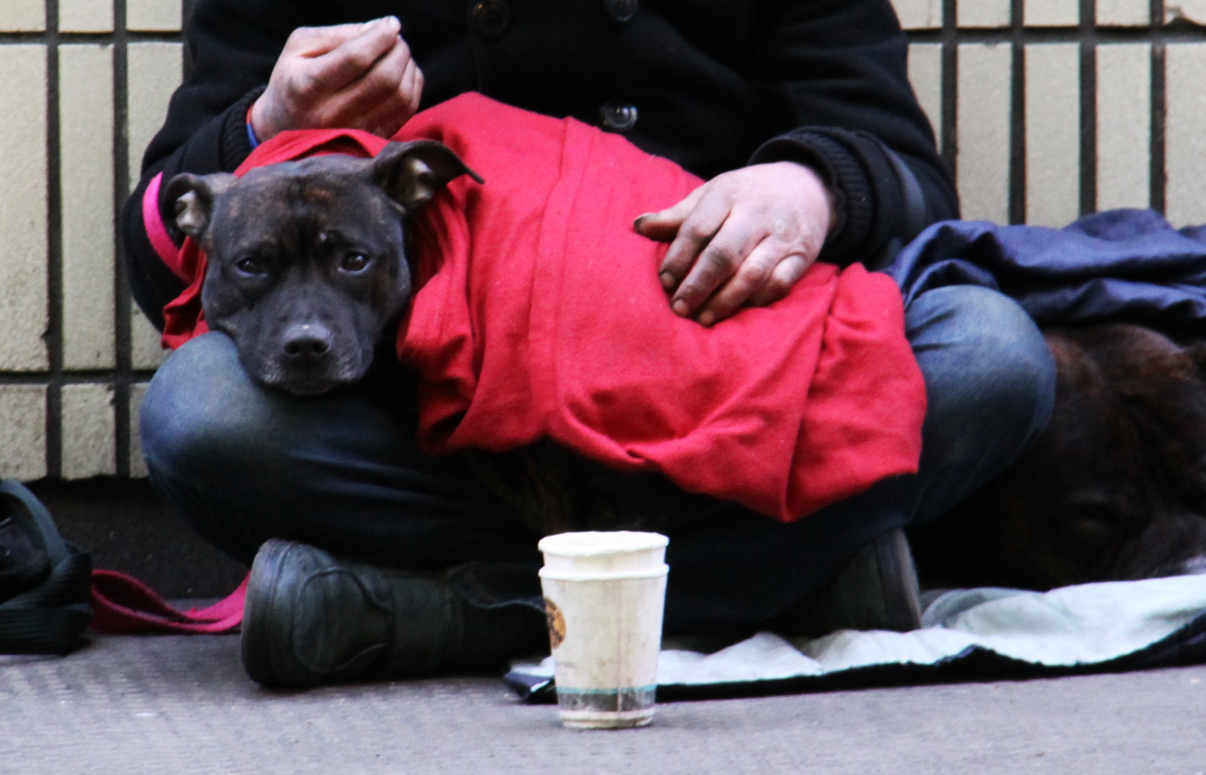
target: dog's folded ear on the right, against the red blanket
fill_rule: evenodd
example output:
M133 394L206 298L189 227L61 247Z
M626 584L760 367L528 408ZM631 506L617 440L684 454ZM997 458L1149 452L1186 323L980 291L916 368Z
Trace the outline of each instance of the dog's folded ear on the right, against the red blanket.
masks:
M406 215L429 202L435 192L462 175L485 182L451 148L434 140L391 142L373 159L371 170L373 182Z

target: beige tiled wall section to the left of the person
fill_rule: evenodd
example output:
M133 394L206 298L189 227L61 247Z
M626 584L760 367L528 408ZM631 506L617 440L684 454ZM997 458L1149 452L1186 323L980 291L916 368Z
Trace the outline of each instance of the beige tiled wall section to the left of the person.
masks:
M180 0L0 0L0 476L142 476L162 362L115 219L183 71Z

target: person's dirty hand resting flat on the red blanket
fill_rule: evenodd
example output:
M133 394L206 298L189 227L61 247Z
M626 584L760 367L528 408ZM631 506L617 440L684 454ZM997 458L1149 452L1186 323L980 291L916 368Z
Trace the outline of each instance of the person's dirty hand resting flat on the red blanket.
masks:
M775 162L719 175L633 227L642 236L673 240L658 269L671 309L713 325L742 306L788 295L816 260L833 218L816 172Z

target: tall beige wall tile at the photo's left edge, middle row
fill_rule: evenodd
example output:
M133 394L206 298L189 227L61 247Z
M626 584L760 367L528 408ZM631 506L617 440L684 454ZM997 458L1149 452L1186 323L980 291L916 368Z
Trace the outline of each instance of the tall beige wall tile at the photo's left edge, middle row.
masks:
M0 46L0 371L48 366L46 47Z

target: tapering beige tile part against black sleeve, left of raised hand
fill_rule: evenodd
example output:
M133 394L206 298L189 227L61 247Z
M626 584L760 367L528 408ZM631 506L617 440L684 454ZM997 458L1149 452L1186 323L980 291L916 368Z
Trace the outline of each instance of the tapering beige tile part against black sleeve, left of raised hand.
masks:
M180 86L183 49L180 43L130 43L129 142L130 188L139 182L142 154L168 115L168 101Z

